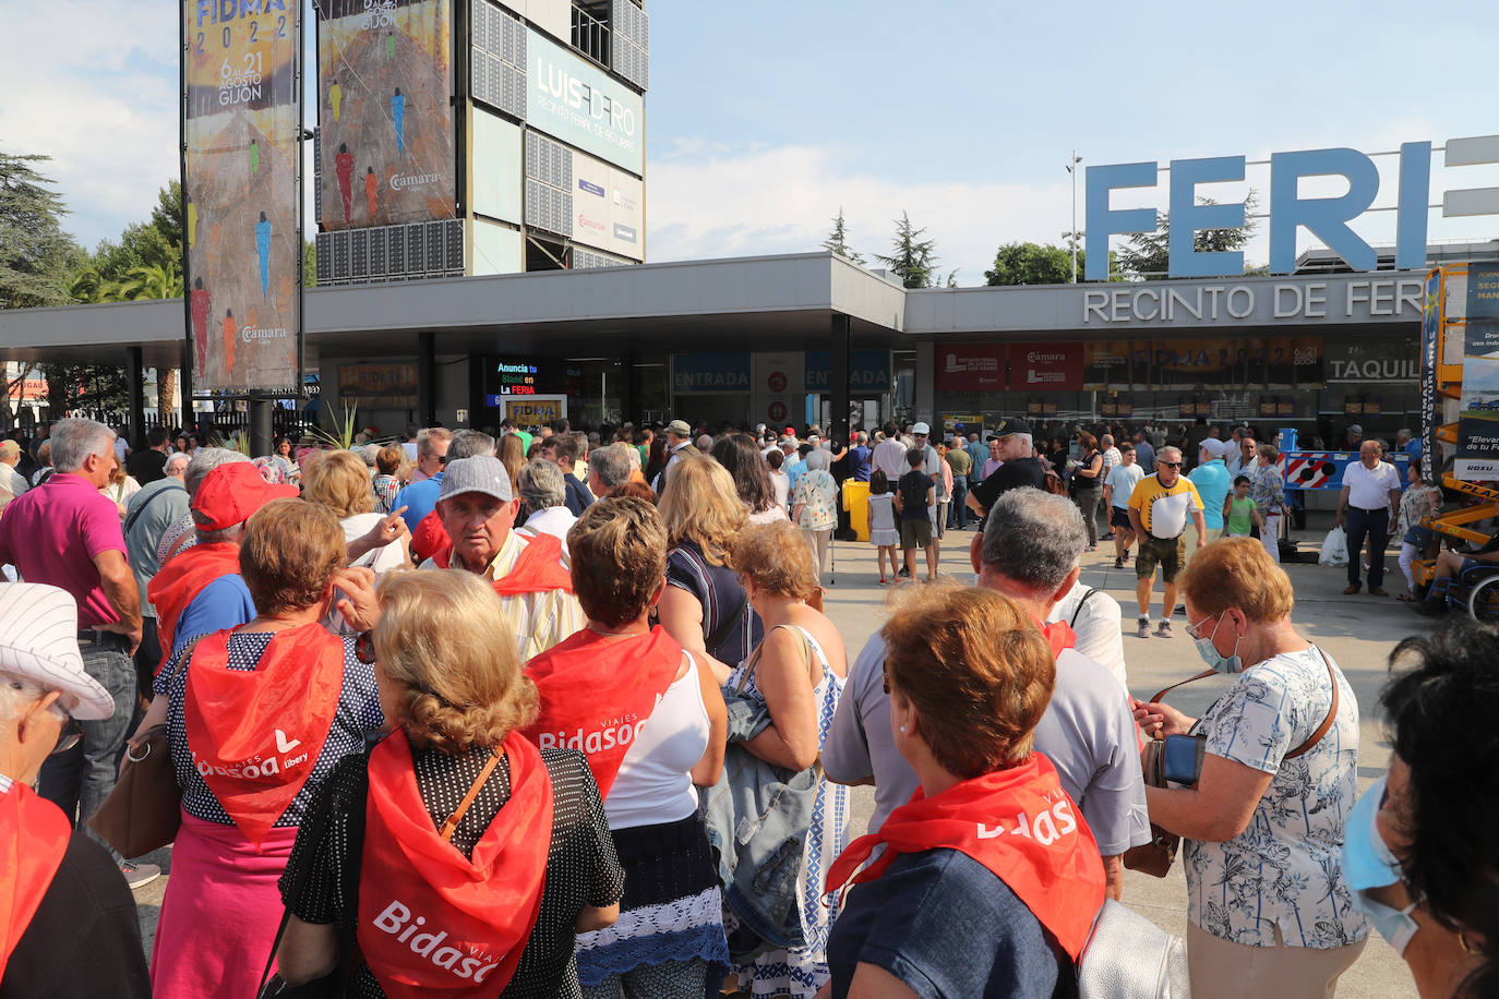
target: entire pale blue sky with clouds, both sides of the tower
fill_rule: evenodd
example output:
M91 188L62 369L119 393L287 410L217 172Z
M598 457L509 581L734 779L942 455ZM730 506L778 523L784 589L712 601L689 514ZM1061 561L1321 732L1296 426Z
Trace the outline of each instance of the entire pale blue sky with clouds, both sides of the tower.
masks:
M9 6L9 4L7 4ZM49 0L9 9L0 148L55 157L87 246L145 217L177 175L175 3ZM1499 132L1496 31L1472 3L1040 3L648 0L651 259L814 249L844 208L884 252L902 210L943 271L982 283L1004 241L1060 243L1064 163L1247 154ZM1378 160L1393 166L1393 159ZM1393 204L1393 171L1376 204ZM1433 168L1448 187L1499 166ZM1223 201L1268 192L1204 190ZM1321 193L1313 184L1307 189ZM1336 193L1337 186L1327 187ZM1115 195L1159 204L1166 189ZM1079 226L1082 186L1078 190ZM1393 214L1360 229L1393 241ZM1444 220L1432 240L1493 238ZM1262 226L1264 229L1264 226ZM1264 232L1249 258L1267 258Z

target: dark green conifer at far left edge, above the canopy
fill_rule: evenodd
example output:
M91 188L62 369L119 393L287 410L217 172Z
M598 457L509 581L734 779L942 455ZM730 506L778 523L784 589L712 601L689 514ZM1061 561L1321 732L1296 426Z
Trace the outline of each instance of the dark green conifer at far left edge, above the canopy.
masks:
M72 301L69 276L84 253L63 232L67 214L52 180L39 172L49 156L0 153L0 309Z

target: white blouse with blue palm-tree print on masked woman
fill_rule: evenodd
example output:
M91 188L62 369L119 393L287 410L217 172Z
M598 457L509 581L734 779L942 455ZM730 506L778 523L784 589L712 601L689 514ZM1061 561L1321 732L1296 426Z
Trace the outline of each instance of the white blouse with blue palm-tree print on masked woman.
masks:
M1337 719L1307 753L1333 687L1313 646L1250 666L1198 720L1207 752L1274 774L1249 825L1226 843L1183 842L1187 918L1220 939L1333 948L1369 936L1343 879L1345 818L1358 798L1358 699L1334 664Z

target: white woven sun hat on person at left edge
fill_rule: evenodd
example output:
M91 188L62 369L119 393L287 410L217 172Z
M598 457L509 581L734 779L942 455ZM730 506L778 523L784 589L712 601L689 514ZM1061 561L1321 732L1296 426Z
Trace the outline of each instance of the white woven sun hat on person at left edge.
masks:
M114 714L114 698L84 672L78 604L55 586L0 583L0 672L61 690L63 707L81 722Z

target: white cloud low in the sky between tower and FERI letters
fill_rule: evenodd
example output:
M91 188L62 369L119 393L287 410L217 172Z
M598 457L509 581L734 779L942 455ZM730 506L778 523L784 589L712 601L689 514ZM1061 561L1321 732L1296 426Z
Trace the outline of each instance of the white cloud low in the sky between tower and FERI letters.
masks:
M648 255L681 261L814 250L839 207L866 261L889 253L895 219L910 214L937 241L941 274L982 285L1001 243L1061 243L1072 189L1055 184L902 181L860 171L832 147L724 145L682 139L646 168ZM1081 223L1082 190L1078 190Z

